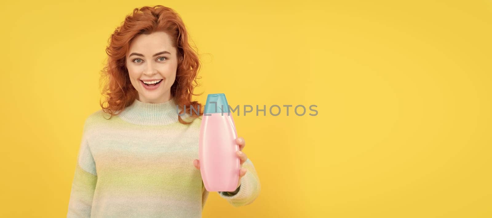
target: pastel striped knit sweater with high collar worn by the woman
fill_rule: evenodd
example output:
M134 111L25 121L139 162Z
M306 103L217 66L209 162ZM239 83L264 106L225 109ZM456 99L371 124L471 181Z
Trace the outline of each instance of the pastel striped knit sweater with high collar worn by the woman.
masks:
M180 123L171 99L135 100L107 118L101 109L84 123L67 218L200 218L209 194L193 166L202 117L186 113L182 118L193 122ZM252 203L260 192L251 160L243 167L239 191L218 192L234 207Z

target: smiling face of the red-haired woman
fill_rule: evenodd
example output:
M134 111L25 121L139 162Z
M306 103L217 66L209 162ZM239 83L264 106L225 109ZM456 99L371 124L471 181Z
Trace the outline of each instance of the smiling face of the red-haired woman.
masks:
M139 101L169 101L178 68L178 55L171 36L164 31L137 35L126 54L126 68ZM155 82L158 83L146 84Z

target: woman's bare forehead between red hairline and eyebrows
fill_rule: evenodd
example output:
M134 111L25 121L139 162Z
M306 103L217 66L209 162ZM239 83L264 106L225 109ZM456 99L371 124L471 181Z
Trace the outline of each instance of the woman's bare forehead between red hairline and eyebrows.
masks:
M164 31L157 31L135 36L130 42L128 54L137 52L147 55L161 51L169 51L173 54L176 50L174 49L171 36Z

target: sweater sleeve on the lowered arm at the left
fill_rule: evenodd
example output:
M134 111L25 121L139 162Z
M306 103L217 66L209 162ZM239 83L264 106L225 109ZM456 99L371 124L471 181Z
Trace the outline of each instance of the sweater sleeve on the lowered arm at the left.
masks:
M84 125L84 134L77 156L77 164L68 202L67 218L91 217L92 198L96 183L97 173L95 162L87 140L86 125Z

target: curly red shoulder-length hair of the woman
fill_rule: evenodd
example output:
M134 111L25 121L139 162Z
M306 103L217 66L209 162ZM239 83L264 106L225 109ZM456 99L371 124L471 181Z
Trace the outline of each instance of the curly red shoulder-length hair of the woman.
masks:
M125 65L126 54L129 50L130 41L135 36L154 31L165 31L170 34L178 51L178 69L176 80L171 86L171 95L181 110L180 114L183 114L184 106L188 106L186 107L188 113L190 113L189 107L199 108L198 113L193 110L192 117L202 115L202 105L198 101L191 101L192 95L203 94L193 94L193 89L199 85L197 79L200 78L197 78L196 75L201 66L200 60L197 53L188 44L188 32L181 16L172 8L162 5L133 9L133 14L126 16L121 27L117 27L111 34L108 40L109 46L106 47L108 60L101 71L100 78L100 82L104 83L102 95L106 96L104 102L107 102L107 106L103 106L104 102L99 101L101 108L113 117L134 102L138 93L130 82ZM191 123L185 122L178 114L176 116L183 124Z

